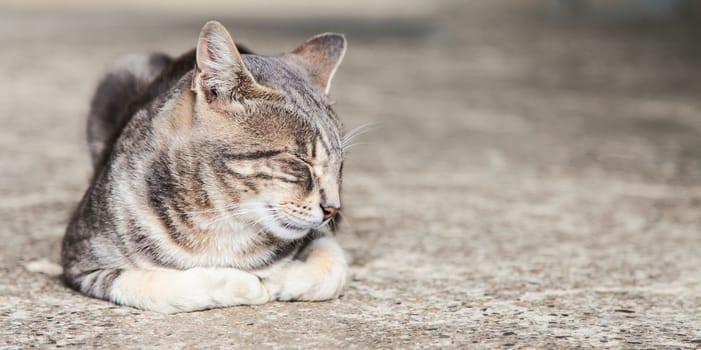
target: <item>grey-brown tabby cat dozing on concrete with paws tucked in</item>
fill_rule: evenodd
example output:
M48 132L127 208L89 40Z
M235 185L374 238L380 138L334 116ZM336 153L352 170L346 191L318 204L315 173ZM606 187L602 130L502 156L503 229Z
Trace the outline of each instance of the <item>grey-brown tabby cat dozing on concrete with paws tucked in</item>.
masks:
M94 175L62 243L66 284L162 313L328 300L347 279L342 123L330 82L343 35L292 52L237 47L219 22L172 59L118 61L92 100Z

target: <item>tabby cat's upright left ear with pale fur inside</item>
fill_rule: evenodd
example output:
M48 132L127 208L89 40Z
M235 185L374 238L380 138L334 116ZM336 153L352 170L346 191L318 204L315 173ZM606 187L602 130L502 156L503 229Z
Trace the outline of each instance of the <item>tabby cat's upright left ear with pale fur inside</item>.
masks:
M211 104L217 101L241 102L242 99L274 94L259 85L241 58L224 26L217 21L204 25L197 41L197 63L191 89L201 89Z

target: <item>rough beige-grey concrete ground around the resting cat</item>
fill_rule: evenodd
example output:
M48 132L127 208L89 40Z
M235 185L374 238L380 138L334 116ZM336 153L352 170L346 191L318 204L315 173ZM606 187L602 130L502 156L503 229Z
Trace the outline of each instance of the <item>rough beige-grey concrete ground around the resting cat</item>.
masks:
M698 22L452 6L218 17L267 54L347 32L337 111L377 126L346 165L341 299L170 316L25 266L59 259L105 66L206 18L0 11L0 348L701 347Z

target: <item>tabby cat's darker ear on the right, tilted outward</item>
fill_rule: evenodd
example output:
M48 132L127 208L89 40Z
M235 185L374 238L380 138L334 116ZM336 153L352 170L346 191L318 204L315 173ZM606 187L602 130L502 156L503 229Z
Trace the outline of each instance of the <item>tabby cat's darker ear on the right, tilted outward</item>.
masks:
M331 79L346 54L346 38L343 34L324 33L309 38L292 55L303 63L312 83L328 94Z

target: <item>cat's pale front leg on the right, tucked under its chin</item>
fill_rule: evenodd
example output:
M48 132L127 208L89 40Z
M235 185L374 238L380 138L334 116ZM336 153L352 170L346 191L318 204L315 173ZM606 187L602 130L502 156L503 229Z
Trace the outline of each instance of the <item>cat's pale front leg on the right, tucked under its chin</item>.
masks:
M348 264L333 237L311 242L297 258L263 279L271 299L328 300L340 295L346 284Z

